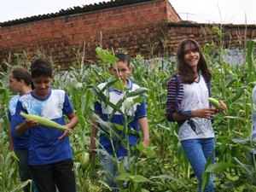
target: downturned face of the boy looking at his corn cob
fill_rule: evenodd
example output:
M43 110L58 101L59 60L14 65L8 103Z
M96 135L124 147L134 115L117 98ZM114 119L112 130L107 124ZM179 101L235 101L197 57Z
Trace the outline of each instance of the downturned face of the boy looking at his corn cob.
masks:
M40 76L32 79L34 85L34 94L39 97L47 96L49 93L49 87L53 77Z

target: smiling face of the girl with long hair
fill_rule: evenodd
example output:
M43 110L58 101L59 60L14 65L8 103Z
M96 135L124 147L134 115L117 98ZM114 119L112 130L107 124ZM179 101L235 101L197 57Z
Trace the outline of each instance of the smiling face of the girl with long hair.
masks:
M189 67L197 67L200 60L200 54L195 44L185 44L184 46L184 62Z

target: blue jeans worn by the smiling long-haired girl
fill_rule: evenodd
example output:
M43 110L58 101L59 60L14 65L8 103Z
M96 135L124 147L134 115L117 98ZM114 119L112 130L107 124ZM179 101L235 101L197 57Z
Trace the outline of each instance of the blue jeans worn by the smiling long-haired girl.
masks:
M189 159L193 171L199 181L198 192L201 192L202 174L205 172L207 159L212 155L212 163L214 163L214 138L205 139L189 139L181 141L183 151ZM213 191L213 176L212 173L209 182L205 186L204 192Z

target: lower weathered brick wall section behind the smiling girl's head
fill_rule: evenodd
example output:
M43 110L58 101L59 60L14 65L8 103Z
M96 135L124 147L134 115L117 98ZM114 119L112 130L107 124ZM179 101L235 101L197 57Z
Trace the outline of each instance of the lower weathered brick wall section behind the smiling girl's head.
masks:
M218 29L216 29L218 27ZM221 33L221 35L219 34ZM255 25L208 25L196 23L168 23L168 50L174 53L183 38L194 38L199 44L211 44L227 49L244 49L247 40L256 38ZM220 38L220 36L222 38Z

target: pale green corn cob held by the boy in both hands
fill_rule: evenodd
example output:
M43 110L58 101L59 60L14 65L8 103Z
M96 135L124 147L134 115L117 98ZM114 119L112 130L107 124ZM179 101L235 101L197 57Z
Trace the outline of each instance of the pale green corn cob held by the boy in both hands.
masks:
M37 120L38 124L40 125L44 125L46 127L49 128L55 128L55 129L59 129L59 130L63 130L63 131L72 131L71 129L67 129L65 126L57 124L55 121L50 120L50 119L45 119L43 117L40 117L36 114L27 114L27 113L23 113L20 112L20 115L26 119L33 119L33 120Z

